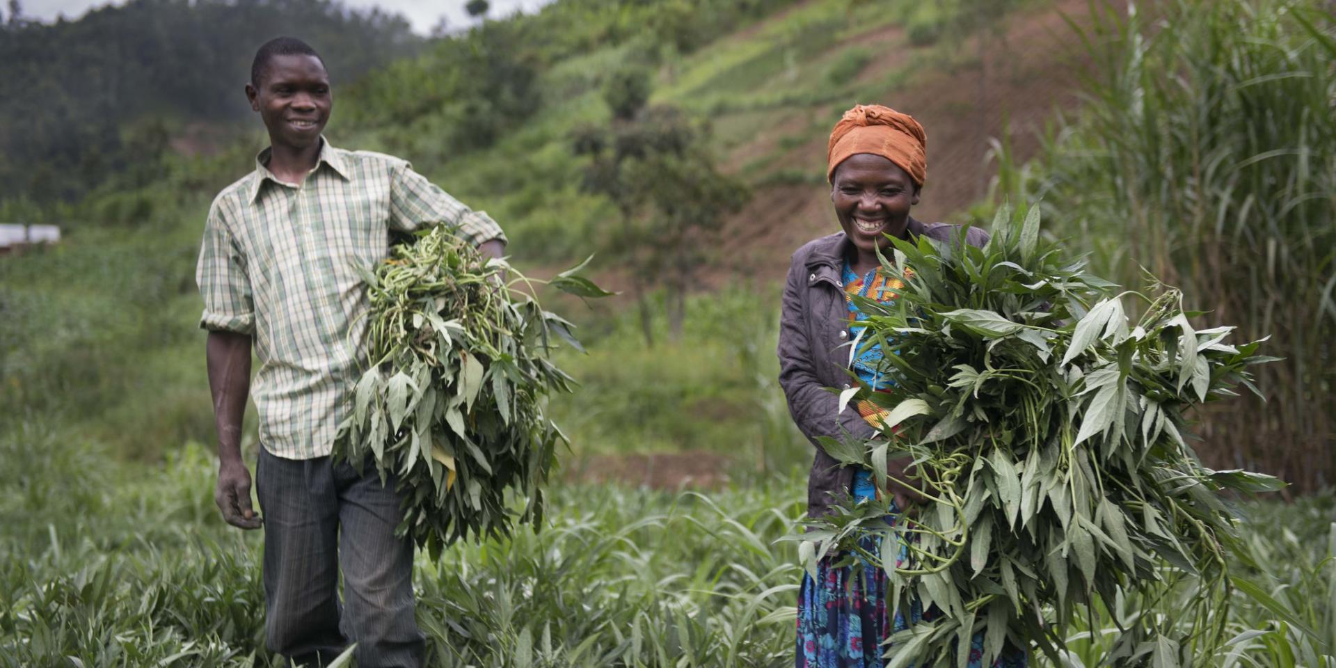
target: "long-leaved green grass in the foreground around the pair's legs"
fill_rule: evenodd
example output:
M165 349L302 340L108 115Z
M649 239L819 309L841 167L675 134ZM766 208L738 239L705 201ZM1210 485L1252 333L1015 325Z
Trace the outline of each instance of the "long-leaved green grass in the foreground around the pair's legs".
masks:
M0 434L0 668L278 664L263 645L262 537L223 525L202 445L171 452L119 462L40 421ZM557 486L537 534L418 554L428 665L790 665L802 570L775 541L795 530L803 482ZM1336 667L1336 498L1245 516L1233 568L1271 604L1240 593L1222 620L1236 640L1209 665ZM1173 605L1113 601L1101 627L1069 629L1059 665L1102 665L1112 619Z

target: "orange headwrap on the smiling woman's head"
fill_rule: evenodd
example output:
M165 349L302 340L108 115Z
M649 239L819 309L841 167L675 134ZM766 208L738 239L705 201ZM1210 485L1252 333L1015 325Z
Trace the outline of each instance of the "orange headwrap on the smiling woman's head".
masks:
M831 131L826 150L826 180L854 154L880 155L922 186L927 179L927 134L914 116L880 104L856 104Z

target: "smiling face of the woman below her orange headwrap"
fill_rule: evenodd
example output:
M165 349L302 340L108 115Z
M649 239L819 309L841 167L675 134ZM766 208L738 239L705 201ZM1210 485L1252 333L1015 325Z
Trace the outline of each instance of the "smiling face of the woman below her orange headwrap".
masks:
M880 155L855 154L835 168L831 182L835 216L864 257L890 247L886 236L904 236L918 188L899 166Z

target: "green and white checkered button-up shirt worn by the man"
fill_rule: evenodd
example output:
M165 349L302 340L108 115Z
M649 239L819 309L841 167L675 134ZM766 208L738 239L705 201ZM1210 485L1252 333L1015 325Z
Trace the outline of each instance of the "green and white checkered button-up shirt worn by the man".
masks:
M445 223L478 244L505 235L398 158L325 142L301 186L278 180L267 163L266 148L208 210L195 271L199 325L254 337L261 444L307 460L330 454L367 363L370 302L354 267L389 255L390 230Z

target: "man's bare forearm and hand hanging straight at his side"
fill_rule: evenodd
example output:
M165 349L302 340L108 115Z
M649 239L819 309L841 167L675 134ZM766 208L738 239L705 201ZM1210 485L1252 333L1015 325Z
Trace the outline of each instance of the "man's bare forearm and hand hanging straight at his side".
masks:
M258 529L259 516L251 509L251 478L242 462L242 421L250 397L250 349L247 334L210 331L206 345L208 390L214 397L214 426L218 429L218 486L214 501L223 520L242 529Z

